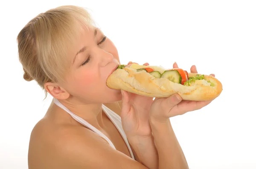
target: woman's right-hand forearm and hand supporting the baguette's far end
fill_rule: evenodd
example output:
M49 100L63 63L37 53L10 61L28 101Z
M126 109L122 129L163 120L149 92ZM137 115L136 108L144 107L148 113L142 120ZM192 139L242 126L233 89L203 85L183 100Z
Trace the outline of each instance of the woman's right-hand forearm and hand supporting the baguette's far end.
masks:
M211 101L182 100L178 94L156 98L151 104L149 122L159 156L159 169L188 169L186 158L170 123L170 118L201 109Z

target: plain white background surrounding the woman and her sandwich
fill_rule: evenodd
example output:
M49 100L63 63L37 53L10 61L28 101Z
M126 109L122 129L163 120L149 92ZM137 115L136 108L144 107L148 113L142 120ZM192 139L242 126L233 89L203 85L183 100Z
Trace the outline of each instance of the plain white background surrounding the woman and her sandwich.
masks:
M30 132L51 97L23 80L16 37L37 14L61 5L90 9L129 61L215 76L223 92L207 107L171 119L191 169L256 169L256 5L248 0L58 0L1 2L0 168L27 169ZM168 2L168 3L167 3Z

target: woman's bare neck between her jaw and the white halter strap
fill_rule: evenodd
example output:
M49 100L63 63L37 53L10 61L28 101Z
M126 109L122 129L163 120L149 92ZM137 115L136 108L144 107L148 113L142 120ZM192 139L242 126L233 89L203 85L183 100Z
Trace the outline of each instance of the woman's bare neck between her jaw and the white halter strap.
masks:
M84 104L79 101L58 100L72 113L83 118L96 128L103 128L102 103Z

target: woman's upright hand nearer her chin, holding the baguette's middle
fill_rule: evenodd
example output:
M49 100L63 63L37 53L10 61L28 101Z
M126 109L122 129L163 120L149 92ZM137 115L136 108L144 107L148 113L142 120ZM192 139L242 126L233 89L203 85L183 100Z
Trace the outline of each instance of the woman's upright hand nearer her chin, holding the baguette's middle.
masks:
M128 65L131 65L129 62ZM135 63L137 64L137 63ZM143 65L149 65L145 63ZM151 136L149 124L149 109L153 103L152 97L140 96L122 90L122 127L128 138L134 136Z

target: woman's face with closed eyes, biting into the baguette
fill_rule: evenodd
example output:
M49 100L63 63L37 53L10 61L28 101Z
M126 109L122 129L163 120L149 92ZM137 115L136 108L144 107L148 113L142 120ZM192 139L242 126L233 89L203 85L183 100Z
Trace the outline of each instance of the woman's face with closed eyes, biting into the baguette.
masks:
M119 101L120 90L108 88L108 76L119 65L117 49L99 29L85 30L72 52L71 71L65 89L85 103Z

